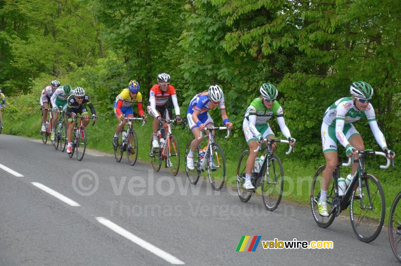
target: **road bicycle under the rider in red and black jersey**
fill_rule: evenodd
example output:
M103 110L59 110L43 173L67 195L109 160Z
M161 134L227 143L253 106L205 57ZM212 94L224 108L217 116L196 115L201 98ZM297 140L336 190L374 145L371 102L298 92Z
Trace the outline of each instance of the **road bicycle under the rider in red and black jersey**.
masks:
M162 125L162 123L166 123ZM160 119L159 129L157 131L157 142L159 148L153 148L152 141L153 136L150 138L150 162L153 167L153 171L158 172L160 170L162 162L165 163L165 167L168 168L170 174L176 176L179 170L179 146L178 140L174 135L171 134L171 124L176 123L176 120ZM162 134L164 131L164 135ZM165 137L165 138L163 138Z

